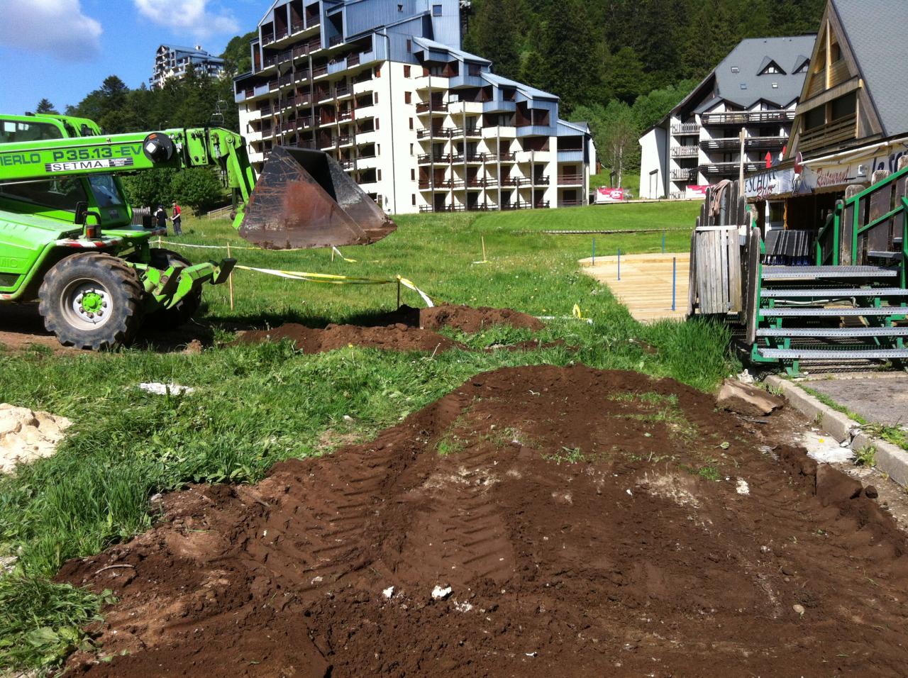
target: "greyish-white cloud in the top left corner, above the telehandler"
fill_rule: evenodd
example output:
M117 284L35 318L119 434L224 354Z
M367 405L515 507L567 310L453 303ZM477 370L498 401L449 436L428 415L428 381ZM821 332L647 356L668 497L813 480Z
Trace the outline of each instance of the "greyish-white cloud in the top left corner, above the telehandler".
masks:
M64 61L88 61L101 52L101 24L79 0L0 0L0 44L46 52Z

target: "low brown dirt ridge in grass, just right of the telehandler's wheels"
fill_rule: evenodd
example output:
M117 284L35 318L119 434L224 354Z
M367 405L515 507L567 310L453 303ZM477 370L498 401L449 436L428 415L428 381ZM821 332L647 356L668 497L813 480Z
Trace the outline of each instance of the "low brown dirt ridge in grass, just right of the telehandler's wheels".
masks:
M329 325L325 329L312 329L290 323L275 329L258 329L242 332L236 343L257 344L262 341L291 339L304 353L320 353L342 349L346 346L363 346L387 350L422 350L441 352L459 344L436 332L412 328L407 325L362 328L357 325Z

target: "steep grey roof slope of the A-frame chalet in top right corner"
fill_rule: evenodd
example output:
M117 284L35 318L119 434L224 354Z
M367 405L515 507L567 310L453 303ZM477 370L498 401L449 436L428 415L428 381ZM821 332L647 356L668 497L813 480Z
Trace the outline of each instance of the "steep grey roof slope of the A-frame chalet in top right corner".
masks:
M830 0L864 78L883 134L908 132L908 71L901 45L908 25L905 0Z

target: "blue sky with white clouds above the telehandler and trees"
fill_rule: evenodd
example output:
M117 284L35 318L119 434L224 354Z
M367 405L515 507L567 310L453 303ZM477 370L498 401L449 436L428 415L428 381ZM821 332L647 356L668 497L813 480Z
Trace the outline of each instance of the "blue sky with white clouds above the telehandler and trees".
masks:
M63 112L108 75L147 83L160 44L221 54L251 31L270 0L0 0L0 113Z

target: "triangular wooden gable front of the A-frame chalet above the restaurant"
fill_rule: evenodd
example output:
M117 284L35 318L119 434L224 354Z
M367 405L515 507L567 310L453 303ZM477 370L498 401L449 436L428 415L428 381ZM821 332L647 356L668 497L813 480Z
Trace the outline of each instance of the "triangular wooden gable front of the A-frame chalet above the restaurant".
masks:
M858 59L827 0L804 87L795 110L785 159L805 158L883 136L883 125L864 84Z

